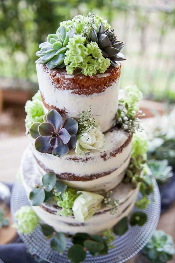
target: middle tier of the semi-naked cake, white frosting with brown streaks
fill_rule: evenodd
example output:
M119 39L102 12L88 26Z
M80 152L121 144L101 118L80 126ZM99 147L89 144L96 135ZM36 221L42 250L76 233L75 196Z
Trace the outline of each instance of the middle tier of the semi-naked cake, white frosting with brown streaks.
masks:
M62 158L32 149L36 166L43 176L55 173L57 179L68 186L85 191L109 191L122 181L129 165L132 134L112 128L105 133L105 146L101 151L92 150L86 155L76 155L70 150Z

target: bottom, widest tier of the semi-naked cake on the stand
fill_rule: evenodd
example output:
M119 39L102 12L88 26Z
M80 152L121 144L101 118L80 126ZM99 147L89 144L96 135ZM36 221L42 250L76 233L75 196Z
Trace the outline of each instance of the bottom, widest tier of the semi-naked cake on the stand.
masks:
M22 183L29 197L29 193L35 185L41 184L41 176L38 175L36 162L30 148L24 152L21 162L21 177ZM55 200L43 203L40 206L33 206L42 222L53 226L57 232L64 232L73 235L77 232L87 232L89 234L100 234L106 229L111 229L117 222L125 216L128 216L134 207L136 198L139 192L139 184L136 189L133 189L132 184L120 183L113 189L112 198L118 200L118 211L115 215L111 214L109 207L102 207L87 221L81 223L74 216L64 217L58 215L57 212L61 209L57 206Z

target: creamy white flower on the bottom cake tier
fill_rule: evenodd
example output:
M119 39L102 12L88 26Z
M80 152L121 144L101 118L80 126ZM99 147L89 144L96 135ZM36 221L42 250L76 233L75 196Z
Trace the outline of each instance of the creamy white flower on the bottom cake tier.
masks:
M72 210L76 220L79 222L85 222L100 209L101 201L104 197L102 195L86 191L78 191L77 193L82 194L79 195L74 201Z

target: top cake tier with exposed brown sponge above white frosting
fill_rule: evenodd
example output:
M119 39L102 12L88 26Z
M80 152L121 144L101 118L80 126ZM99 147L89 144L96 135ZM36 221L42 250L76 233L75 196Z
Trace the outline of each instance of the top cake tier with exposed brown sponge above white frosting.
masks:
M120 63L92 77L78 71L68 75L65 68L49 70L43 64L36 64L36 70L45 113L56 109L62 117L79 118L90 106L102 132L113 126L118 108Z

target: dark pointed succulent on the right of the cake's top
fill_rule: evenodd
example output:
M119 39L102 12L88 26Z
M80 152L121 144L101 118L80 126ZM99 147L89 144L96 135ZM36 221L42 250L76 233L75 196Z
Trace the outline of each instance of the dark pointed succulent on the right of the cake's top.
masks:
M115 67L117 61L125 60L123 54L120 53L125 43L117 40L114 29L110 30L108 28L105 30L103 22L100 23L97 30L92 30L90 39L98 43L104 58L110 59L111 66Z

